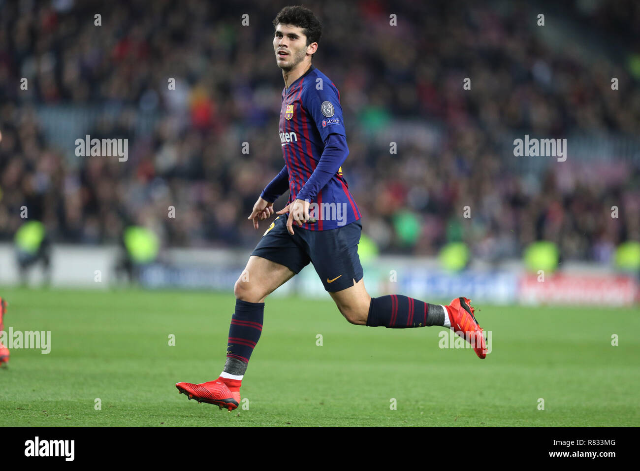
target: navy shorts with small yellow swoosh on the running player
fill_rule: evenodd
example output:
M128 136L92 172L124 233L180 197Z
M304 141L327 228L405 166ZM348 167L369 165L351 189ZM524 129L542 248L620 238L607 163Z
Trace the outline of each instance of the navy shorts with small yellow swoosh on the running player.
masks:
M293 222L287 231L287 215L276 217L262 235L252 255L275 261L298 274L311 262L329 292L342 291L362 279L358 256L360 220L327 231L310 231Z

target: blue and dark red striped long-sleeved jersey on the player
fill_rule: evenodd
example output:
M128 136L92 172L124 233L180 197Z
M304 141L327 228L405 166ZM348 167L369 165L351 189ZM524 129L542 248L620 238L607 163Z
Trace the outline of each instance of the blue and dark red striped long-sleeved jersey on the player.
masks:
M313 65L303 76L282 90L279 131L282 156L286 164L286 169L282 169L280 173L289 174L290 194L287 204L296 198L307 199L310 201L310 217L317 219L316 223L307 222L302 227L325 231L360 219L360 210L342 174L341 164L348 154L348 148L340 92ZM323 165L310 180L323 153ZM315 181L321 178L320 170L326 172L330 165L334 165L332 172L335 174L326 185L314 190ZM305 186L307 182L309 185Z

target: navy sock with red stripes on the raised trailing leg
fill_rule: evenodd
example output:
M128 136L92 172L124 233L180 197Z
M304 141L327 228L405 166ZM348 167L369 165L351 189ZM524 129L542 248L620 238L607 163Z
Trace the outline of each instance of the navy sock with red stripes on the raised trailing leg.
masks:
M367 326L392 329L408 327L444 326L449 316L440 304L413 299L401 294L372 297Z

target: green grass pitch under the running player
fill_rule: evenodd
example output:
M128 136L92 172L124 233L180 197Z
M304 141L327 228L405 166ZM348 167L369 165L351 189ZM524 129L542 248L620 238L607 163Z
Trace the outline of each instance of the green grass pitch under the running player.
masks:
M5 329L51 331L51 353L13 349L0 370L0 426L640 426L637 308L474 302L492 331L481 360L438 348L441 327L353 326L328 296L271 297L248 403L229 413L174 384L218 377L232 294L0 293Z

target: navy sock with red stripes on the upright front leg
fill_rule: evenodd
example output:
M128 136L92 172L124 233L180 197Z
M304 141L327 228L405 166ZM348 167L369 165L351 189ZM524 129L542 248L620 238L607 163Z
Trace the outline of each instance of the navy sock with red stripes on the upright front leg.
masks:
M223 372L241 381L262 333L264 302L248 302L236 299L236 312L231 318L227 361ZM239 378L238 378L239 377Z

